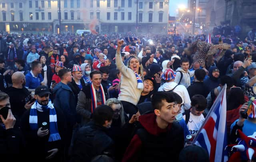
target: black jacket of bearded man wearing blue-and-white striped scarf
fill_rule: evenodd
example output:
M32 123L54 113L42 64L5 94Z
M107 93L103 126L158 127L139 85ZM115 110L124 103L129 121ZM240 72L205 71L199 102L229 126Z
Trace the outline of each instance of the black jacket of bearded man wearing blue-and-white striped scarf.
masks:
M27 110L21 119L21 130L26 142L26 153L27 159L33 160L33 156L37 156L38 159L44 159L46 156L49 156L47 153L48 150L52 150L53 148L58 148L59 152L56 155L56 158L60 158L61 154L63 154L64 150L64 142L66 140L66 133L67 133L67 123L64 117L62 110L55 108L56 115L57 115L57 125L58 125L58 132L60 134L61 140L48 142L50 133L42 138L38 137L37 131L38 130L31 130L29 124L29 116L30 110ZM41 127L42 122L50 123L49 119L49 110L44 112L37 111L37 118L38 118L38 128ZM62 155L63 156L63 155ZM59 159L56 159L57 161Z

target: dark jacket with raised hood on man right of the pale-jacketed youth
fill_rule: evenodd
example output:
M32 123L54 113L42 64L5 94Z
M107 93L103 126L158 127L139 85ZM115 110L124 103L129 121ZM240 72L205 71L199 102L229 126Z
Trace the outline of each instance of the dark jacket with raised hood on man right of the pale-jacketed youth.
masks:
M213 88L216 88L219 86L220 82L219 82L219 77L215 78L214 76L212 76L212 72L214 69L216 69L216 66L212 66L209 69L209 78L204 80L204 86L207 88L206 92L209 93L210 90L212 90Z

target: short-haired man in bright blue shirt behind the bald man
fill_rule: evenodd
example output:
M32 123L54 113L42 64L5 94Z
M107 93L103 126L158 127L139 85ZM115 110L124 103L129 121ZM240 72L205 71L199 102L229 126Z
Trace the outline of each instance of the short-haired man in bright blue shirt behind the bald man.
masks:
M41 75L42 64L38 61L33 61L31 64L31 70L26 74L26 88L32 92L36 87L44 85L44 79Z

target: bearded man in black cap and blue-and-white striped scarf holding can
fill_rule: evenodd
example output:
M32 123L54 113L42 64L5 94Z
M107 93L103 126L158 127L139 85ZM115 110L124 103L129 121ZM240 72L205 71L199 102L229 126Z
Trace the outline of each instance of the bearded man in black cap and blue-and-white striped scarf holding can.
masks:
M60 161L64 153L66 120L63 112L54 108L49 99L50 90L38 86L36 102L21 119L21 130L26 141L26 159Z

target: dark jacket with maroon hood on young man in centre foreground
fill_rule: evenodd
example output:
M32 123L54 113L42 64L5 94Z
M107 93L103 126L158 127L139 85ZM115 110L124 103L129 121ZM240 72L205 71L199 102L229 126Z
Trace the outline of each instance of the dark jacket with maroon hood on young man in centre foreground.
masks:
M122 162L176 162L184 146L181 126L174 122L166 129L157 126L155 114L139 117L143 128L132 138Z

